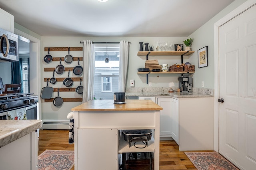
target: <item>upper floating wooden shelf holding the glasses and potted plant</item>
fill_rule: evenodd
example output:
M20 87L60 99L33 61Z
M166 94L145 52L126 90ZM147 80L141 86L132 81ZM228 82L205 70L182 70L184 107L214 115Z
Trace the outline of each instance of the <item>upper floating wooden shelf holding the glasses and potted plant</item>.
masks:
M190 55L194 52L195 51L139 51L137 55Z

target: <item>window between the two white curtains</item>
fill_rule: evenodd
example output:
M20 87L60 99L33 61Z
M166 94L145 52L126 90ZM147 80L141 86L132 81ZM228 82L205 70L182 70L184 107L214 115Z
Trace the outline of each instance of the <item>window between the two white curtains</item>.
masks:
M118 92L119 44L94 44L94 96L114 99Z

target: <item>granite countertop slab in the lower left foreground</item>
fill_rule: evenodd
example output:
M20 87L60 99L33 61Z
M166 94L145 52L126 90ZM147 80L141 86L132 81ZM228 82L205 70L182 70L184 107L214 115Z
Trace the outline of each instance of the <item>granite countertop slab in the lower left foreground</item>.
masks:
M0 120L0 148L42 127L42 120Z

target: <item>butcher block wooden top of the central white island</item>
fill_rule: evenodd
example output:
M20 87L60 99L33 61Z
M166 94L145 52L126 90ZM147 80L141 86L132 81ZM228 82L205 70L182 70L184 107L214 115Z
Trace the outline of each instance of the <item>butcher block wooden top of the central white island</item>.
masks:
M114 100L90 100L72 108L72 111L135 111L162 110L151 100L125 100L125 104L114 104Z

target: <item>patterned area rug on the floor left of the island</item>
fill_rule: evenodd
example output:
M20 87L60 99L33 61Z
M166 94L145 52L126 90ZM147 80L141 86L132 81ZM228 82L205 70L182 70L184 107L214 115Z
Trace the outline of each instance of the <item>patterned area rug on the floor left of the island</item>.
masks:
M38 156L38 170L70 170L74 166L74 151L45 150Z

